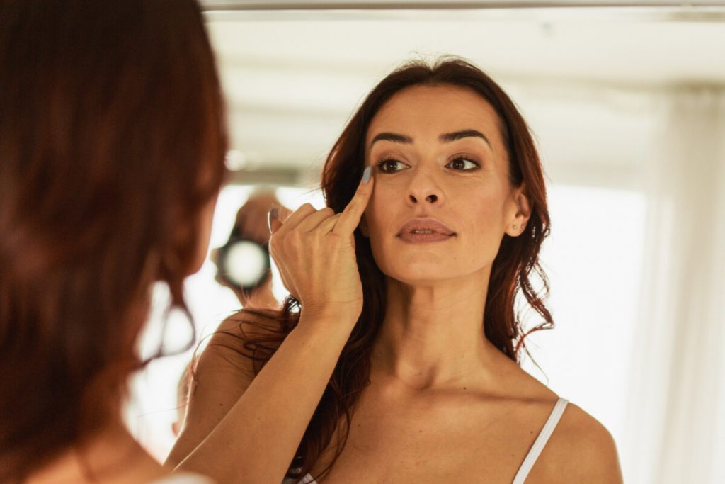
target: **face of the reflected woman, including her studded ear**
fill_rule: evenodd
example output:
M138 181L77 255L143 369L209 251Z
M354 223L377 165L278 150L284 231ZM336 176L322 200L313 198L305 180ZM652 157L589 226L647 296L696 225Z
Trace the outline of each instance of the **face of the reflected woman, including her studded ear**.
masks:
M528 220L498 116L474 91L395 94L370 123L365 165L376 181L361 229L381 271L401 282L485 274L504 234L518 236Z

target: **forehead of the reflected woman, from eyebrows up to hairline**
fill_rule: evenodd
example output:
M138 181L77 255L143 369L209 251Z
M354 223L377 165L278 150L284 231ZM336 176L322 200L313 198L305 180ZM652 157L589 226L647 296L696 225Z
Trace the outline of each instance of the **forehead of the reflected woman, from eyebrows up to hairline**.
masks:
M499 118L480 94L458 86L413 86L394 94L376 113L366 146L378 133L405 134L414 140L476 129L501 147Z

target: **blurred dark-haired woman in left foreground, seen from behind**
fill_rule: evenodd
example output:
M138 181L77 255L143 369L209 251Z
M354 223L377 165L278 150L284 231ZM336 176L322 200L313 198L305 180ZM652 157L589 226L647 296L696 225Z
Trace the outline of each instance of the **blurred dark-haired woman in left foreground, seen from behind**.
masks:
M186 311L225 175L199 7L2 1L0 72L0 482L208 482L121 420L149 290Z

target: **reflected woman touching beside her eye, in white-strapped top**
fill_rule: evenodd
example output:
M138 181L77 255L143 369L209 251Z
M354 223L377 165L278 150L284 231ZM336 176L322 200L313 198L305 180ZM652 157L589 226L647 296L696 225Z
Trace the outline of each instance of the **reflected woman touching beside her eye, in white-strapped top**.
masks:
M607 430L518 366L517 296L552 326L530 282L549 216L494 81L455 59L388 75L323 190L328 208L270 218L294 297L225 321L171 463L220 482L621 482Z

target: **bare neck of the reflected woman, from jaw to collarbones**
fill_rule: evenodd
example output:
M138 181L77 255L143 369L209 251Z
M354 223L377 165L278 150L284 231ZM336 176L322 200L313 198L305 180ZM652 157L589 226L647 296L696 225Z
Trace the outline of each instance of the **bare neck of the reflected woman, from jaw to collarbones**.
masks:
M492 381L501 354L484 336L489 274L426 284L388 279L372 371L418 390Z

